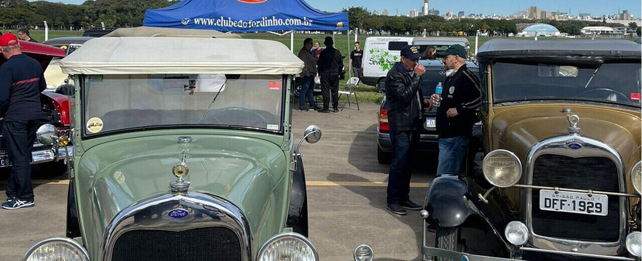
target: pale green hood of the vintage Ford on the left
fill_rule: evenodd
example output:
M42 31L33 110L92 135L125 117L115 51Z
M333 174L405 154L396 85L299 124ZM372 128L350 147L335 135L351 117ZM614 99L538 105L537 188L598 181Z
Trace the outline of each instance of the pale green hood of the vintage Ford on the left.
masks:
M110 221L128 206L169 193L176 177L172 167L186 150L191 183L189 191L211 194L238 206L261 240L284 224L284 182L289 173L279 146L255 138L191 136L192 143L177 143L178 136L152 136L111 141L85 151L76 166L74 181L82 231L87 248L97 255ZM286 184L284 184L286 183ZM96 258L96 257L94 257Z

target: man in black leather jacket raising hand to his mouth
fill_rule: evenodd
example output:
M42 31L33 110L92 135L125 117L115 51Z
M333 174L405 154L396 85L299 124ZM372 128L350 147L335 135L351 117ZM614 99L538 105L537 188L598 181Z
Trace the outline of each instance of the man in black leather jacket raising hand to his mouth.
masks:
M388 174L387 208L397 215L422 206L410 201L410 176L419 149L419 128L424 118L424 106L431 106L423 98L421 76L426 68L419 64L421 53L415 46L401 49L397 62L386 76L386 108L392 141L392 160Z

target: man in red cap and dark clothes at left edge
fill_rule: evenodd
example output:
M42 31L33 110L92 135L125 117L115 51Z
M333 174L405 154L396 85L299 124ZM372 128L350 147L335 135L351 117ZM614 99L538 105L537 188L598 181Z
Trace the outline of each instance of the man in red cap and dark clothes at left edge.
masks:
M8 210L34 206L31 148L40 120L40 93L46 88L42 67L20 51L12 33L0 35L0 118L3 143L13 168L6 185Z

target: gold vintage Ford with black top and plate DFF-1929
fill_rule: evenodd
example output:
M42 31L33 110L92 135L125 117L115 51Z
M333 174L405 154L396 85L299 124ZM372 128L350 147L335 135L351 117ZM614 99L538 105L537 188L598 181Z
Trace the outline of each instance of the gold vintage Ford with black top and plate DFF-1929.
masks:
M483 161L431 181L424 260L639 260L639 45L494 39L478 59Z

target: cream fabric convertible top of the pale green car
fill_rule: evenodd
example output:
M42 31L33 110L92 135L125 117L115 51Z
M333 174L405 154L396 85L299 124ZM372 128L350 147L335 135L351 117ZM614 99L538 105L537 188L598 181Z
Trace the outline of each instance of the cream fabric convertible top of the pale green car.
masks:
M60 61L63 73L298 74L303 62L272 40L100 37Z

